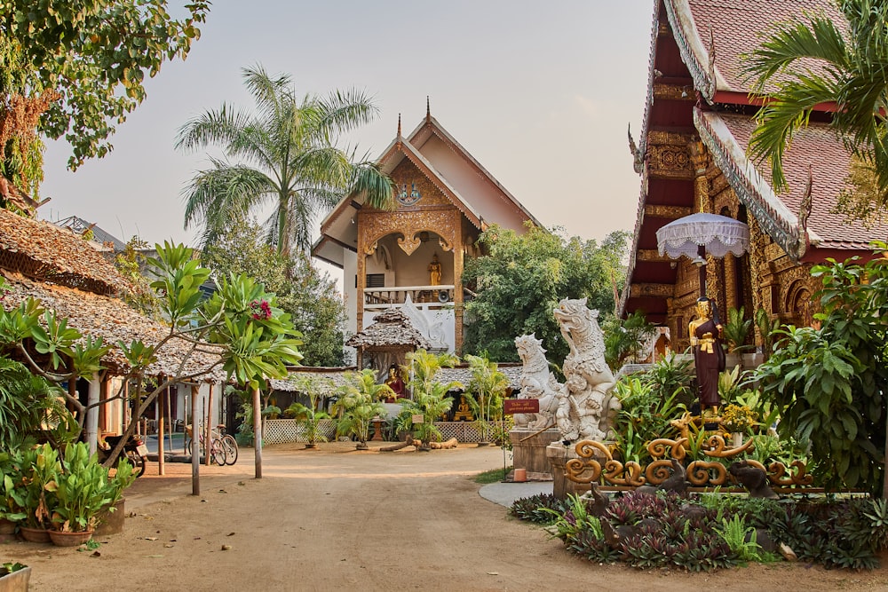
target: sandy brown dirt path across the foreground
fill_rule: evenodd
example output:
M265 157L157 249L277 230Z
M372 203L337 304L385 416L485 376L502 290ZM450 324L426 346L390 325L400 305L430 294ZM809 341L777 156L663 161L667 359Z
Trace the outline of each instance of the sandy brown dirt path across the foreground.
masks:
M134 516L122 534L99 538L100 556L24 542L0 547L0 556L31 565L38 592L888 589L884 568L779 564L687 574L589 564L478 495L470 476L501 467L499 449L322 446L266 449L260 480L249 453L234 467L211 467L200 496L190 494L190 465L140 478L127 498Z

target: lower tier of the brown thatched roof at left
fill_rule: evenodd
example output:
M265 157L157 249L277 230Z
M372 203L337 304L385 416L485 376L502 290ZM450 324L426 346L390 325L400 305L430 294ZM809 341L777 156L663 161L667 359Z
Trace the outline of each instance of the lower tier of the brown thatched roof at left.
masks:
M113 345L102 359L112 374L124 375L131 368L123 351L117 347L118 341L131 343L138 339L147 345L154 345L170 334L170 328L139 314L116 298L28 280L12 272L3 274L9 290L2 300L6 310L17 307L28 296L39 298L44 308L54 310L60 317L67 317L68 327L77 329L83 335L101 337L105 343ZM171 339L157 352L157 361L147 368L147 374L176 376L182 360L188 358L183 375L195 375L211 369L208 374L195 380L208 383L225 380L226 373L218 366L218 347L205 343L188 357L191 350L192 344L184 339Z

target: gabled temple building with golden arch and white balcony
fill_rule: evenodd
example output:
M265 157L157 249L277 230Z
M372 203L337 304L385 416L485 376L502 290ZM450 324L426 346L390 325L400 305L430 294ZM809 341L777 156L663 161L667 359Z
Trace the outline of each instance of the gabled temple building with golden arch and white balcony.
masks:
M400 308L432 351L461 352L465 257L477 257L490 225L538 224L503 185L432 117L398 134L378 158L396 187L395 208L346 195L321 223L313 256L343 269L346 334Z

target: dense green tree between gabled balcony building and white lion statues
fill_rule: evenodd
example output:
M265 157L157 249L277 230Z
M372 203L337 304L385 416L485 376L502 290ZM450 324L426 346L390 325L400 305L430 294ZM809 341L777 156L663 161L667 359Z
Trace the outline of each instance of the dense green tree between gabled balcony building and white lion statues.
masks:
M534 225L523 234L498 226L482 233L489 255L469 259L463 273L464 285L478 295L465 305L464 351L518 361L515 336L535 333L552 359L564 359L567 343L552 311L562 298L588 297L591 308L613 312L628 237L610 233L599 246Z

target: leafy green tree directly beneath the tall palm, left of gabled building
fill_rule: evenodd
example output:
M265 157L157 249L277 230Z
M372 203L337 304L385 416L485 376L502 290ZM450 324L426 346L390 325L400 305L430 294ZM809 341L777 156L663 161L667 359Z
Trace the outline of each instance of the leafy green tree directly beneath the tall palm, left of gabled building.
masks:
M217 276L248 273L277 296L293 327L303 335L306 366L342 366L345 304L336 282L303 253L283 256L268 246L255 221L240 221L202 252L202 262Z

